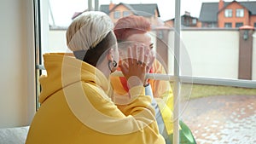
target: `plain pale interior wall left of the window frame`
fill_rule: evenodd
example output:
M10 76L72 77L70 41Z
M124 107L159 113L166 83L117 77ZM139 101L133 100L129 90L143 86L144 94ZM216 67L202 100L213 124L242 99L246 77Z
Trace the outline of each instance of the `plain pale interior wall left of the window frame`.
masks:
M35 112L32 1L1 2L0 127L26 125Z

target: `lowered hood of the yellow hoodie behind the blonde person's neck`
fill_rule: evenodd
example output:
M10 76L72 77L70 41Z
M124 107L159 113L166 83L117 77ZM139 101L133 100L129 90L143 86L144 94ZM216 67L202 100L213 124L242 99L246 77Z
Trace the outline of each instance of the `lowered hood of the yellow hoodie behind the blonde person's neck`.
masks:
M73 56L64 53L45 54L44 67L47 75L42 75L39 79L42 88L39 95L41 104L67 85L81 81L101 87L107 95L110 94L110 84L105 75L95 66Z

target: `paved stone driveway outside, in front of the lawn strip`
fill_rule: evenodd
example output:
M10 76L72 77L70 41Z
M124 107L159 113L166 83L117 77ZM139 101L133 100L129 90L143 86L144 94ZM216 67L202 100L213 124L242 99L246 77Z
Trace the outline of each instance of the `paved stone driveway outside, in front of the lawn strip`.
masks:
M198 144L256 144L256 95L190 100L183 121Z

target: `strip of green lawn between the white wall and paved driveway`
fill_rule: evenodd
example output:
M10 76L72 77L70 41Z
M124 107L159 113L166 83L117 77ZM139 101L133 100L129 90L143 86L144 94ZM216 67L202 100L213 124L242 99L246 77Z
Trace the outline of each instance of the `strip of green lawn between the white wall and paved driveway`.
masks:
M192 85L192 99L214 95L256 95L256 89L201 84Z

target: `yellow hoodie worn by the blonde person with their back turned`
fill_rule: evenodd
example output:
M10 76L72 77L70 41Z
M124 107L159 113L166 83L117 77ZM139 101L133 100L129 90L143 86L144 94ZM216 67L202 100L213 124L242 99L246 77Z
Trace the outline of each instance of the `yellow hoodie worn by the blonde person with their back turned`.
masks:
M62 54L44 55L41 103L26 144L164 144L144 88L130 89L125 116L108 95L108 79L94 66Z

